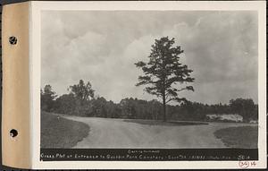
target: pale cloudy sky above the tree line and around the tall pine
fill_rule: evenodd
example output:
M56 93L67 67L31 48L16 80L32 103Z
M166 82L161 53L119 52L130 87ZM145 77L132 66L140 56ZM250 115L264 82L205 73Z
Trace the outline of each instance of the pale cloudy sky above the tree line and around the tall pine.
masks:
M147 62L155 39L168 36L184 50L180 62L194 71L188 85L195 91L180 98L257 103L257 30L257 13L250 11L43 11L41 86L50 84L60 96L82 79L114 102L156 98L135 86L142 74L135 63Z

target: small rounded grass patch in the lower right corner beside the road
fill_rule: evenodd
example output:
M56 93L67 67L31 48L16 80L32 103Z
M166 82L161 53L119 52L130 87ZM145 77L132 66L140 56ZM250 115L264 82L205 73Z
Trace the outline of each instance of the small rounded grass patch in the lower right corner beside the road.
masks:
M230 127L218 130L214 135L230 148L256 149L258 142L257 126Z

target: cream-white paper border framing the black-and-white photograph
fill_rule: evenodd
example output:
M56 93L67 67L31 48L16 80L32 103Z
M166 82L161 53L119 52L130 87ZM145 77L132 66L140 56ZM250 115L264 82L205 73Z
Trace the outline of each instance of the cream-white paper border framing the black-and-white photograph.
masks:
M258 160L253 168L266 167L266 10L265 2L31 2L30 107L31 158L34 168L241 168L241 161L40 161L41 11L258 11ZM194 162L194 163L193 163Z

